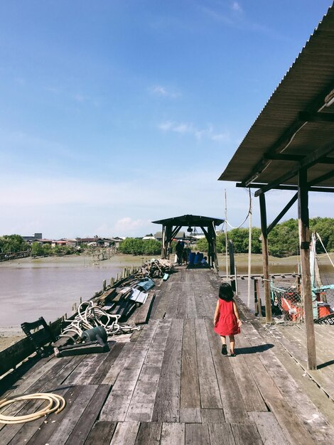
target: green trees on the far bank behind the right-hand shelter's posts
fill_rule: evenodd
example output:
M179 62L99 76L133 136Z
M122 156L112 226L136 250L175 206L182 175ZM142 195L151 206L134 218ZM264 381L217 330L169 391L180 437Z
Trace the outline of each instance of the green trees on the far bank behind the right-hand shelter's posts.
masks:
M334 218L311 218L310 233L318 232L323 241L325 250L334 252ZM261 253L262 245L259 237L261 229L259 227L252 228L252 253ZM229 230L227 233L229 240L233 242L235 253L248 252L249 230L247 228L239 228ZM299 254L298 241L298 220L290 219L284 223L277 224L268 236L269 254L274 257L289 257ZM208 252L208 242L199 240L196 249L202 252ZM317 243L317 252L325 252L323 246ZM225 234L217 235L217 252L225 252Z

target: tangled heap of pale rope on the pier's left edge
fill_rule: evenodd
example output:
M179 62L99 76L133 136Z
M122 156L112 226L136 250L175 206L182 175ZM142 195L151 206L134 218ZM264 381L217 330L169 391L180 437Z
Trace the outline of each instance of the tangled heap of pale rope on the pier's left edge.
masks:
M66 320L70 324L63 330L60 337L71 338L76 341L76 336L81 337L83 331L87 329L103 326L107 332L107 336L114 336L120 333L130 333L140 328L119 324L120 315L107 313L93 301L83 301L77 309L77 315L74 320Z

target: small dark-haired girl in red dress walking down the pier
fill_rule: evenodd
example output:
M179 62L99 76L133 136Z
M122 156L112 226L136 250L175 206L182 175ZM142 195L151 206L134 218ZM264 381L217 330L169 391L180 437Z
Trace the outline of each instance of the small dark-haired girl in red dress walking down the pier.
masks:
M219 288L219 300L213 318L215 333L222 340L222 354L227 355L226 336L230 337L230 356L235 357L235 335L240 333L242 325L239 319L237 305L233 300L233 290L230 284L222 283Z

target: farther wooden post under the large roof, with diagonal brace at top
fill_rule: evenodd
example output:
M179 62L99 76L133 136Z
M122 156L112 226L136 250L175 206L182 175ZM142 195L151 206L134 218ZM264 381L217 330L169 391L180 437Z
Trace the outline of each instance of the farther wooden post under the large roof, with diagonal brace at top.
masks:
M259 195L262 233L262 262L264 277L264 296L266 301L266 323L271 323L271 296L269 282L269 254L268 254L268 230L266 225L266 198L264 193Z

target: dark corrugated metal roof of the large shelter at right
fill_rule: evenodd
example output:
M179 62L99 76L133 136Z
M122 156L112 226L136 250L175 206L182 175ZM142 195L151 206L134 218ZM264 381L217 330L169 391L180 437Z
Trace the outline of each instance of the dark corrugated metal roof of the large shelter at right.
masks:
M271 95L220 181L271 183L296 165L296 161L265 160L264 154L308 156L329 144L334 149L333 122L306 122L300 112L332 113L334 104L324 107L334 89L334 8L328 9L316 31ZM330 98L327 97L327 101ZM334 102L334 101L333 101ZM292 138L292 139L291 139ZM334 152L327 155L334 160ZM308 169L308 181L333 171L333 164L316 163ZM298 177L284 181L296 185ZM334 186L327 178L317 186Z

